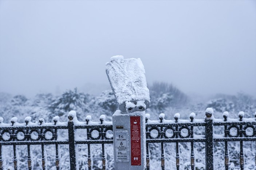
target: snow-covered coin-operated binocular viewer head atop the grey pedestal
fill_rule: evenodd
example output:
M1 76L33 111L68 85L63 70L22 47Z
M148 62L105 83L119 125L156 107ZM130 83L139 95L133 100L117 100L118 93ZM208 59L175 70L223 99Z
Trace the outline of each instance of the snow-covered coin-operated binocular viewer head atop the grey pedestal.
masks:
M145 111L150 105L145 69L140 58L111 57L106 73L122 113Z

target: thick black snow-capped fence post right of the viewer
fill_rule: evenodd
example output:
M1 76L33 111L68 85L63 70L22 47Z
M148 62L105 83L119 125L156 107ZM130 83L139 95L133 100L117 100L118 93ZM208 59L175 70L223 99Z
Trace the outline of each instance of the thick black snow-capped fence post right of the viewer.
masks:
M205 110L205 168L213 170L213 109Z

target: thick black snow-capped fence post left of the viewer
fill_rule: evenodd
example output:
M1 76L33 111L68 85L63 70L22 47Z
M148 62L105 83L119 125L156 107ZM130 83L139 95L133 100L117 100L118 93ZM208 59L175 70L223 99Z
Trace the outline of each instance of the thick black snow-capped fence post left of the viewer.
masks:
M68 113L68 142L69 142L69 158L70 158L70 169L76 170L76 153L75 153L75 124L74 115Z

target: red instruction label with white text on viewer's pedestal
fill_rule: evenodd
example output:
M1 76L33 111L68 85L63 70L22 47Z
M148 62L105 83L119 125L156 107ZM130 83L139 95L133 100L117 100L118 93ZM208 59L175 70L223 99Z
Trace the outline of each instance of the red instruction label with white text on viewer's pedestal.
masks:
M141 165L141 117L131 116L131 165Z

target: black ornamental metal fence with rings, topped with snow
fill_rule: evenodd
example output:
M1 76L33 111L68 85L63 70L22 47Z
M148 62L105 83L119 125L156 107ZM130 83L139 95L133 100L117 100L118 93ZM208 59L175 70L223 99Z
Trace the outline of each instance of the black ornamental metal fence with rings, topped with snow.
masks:
M150 115L146 114L146 169L150 169L150 143L161 143L161 168L165 169L165 151L164 143L176 143L176 168L180 169L179 143L190 142L190 167L195 169L194 142L205 142L205 168L213 170L213 142L225 142L225 170L229 168L228 142L240 142L239 162L240 169L244 169L243 141L255 141L256 145L256 112L255 118L244 118L244 112L239 112L237 119L230 119L228 112L223 113L223 119L214 119L213 110L206 109L205 119L196 119L195 113L190 113L190 120L181 120L180 114L174 115L174 120L166 120L164 113L159 115L159 120L150 120ZM59 117L55 116L53 123L46 123L44 119L33 123L31 117L25 118L25 123L18 123L17 118L13 117L11 123L4 123L3 117L0 117L0 170L3 165L2 146L13 146L13 167L18 169L18 158L16 145L27 145L28 169L33 169L30 145L41 145L42 148L42 169L46 167L46 150L44 145L55 145L56 169L60 169L58 145L69 145L70 152L70 169L77 169L76 162L76 144L87 144L88 146L88 169L92 169L90 145L102 144L102 165L106 169L106 156L104 144L113 143L112 122L105 121L105 115L100 116L100 122L91 121L91 116L86 116L85 122L78 121L75 111L68 113L68 122L60 122ZM214 134L214 127L223 127L223 134ZM204 127L205 134L197 135L194 133L194 127ZM66 129L68 136L60 137L58 130ZM86 136L79 136L76 132L78 129L86 129ZM233 130L232 130L233 129ZM234 132L235 130L235 132ZM96 132L96 133L95 133ZM256 153L255 153L256 164ZM255 165L256 166L256 165Z

